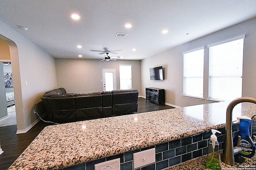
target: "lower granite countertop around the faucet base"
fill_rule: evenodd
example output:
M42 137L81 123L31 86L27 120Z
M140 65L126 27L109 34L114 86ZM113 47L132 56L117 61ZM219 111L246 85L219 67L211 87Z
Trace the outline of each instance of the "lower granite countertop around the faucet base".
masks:
M237 163L234 166L221 162L222 170L256 170L256 155L252 158L246 158L245 162ZM206 168L206 155L200 158L189 160L182 164L166 168L165 170L208 170Z

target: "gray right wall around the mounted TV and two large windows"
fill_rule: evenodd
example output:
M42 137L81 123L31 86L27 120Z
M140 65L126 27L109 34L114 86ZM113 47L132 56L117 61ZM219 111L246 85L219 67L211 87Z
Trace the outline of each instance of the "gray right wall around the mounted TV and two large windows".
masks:
M217 43L245 35L244 61L243 61L243 85L242 96L256 98L256 18L244 21L232 27L217 31L210 35L196 39L189 43L179 45L153 57L141 61L142 95L148 86L166 89L166 102L176 106L192 106L196 104L208 104L208 48L207 45ZM183 55L182 52L205 48L204 55L204 100L195 100L182 97L183 94ZM194 63L196 64L196 63ZM149 68L155 66L165 68L166 80L152 81L149 76Z

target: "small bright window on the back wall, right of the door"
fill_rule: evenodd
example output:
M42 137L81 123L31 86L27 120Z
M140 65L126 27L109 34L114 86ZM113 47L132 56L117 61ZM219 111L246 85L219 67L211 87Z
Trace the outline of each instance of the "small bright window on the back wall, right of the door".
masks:
M119 65L120 90L132 88L132 65Z

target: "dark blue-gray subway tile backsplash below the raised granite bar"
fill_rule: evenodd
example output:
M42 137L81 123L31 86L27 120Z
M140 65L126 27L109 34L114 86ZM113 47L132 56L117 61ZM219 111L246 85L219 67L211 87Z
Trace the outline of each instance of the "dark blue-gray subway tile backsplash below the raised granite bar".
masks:
M253 132L256 135L256 120L253 121L252 125ZM237 134L238 127L238 124L232 125L233 137ZM217 130L222 132L221 134L216 133L216 135L218 136L220 149L223 149L225 128ZM137 149L123 154L118 154L107 158L86 162L84 164L63 168L63 170L84 170L84 168L85 170L94 170L94 164L116 158L120 158L121 170L160 170L207 154L208 139L210 139L211 135L212 132L209 131L198 135L193 135L191 137L178 139L176 141L162 143L160 145ZM156 162L137 169L133 169L133 154L152 148L156 148Z

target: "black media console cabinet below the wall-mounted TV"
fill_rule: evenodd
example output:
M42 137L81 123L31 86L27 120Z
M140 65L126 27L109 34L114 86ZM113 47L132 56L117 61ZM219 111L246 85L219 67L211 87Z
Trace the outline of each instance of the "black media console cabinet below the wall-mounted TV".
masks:
M164 104L164 89L163 88L146 88L146 100L154 102L158 105Z

